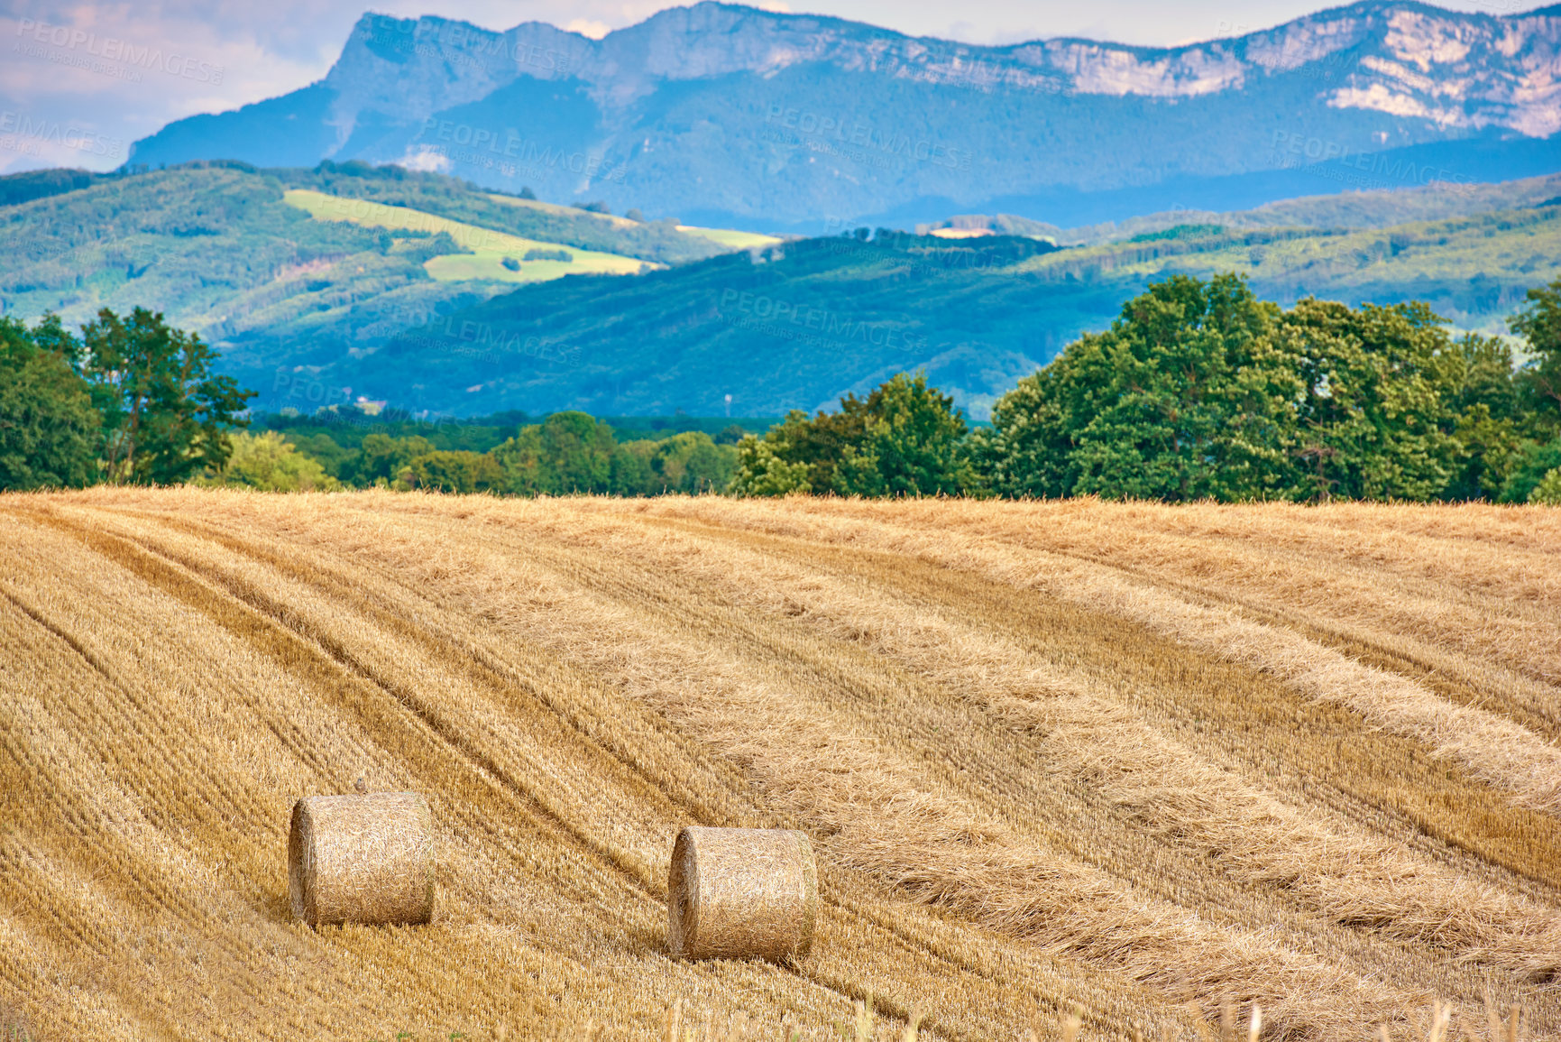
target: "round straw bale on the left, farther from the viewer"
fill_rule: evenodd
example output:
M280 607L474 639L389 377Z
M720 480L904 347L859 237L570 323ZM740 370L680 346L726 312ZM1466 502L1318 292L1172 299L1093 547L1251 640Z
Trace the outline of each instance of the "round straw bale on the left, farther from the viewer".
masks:
M415 792L308 797L287 836L293 915L326 923L434 917L434 819Z

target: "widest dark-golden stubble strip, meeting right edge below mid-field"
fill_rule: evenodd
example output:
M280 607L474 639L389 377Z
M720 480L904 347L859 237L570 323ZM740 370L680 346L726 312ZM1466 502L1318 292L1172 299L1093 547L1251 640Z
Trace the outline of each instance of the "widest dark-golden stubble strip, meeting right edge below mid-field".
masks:
M682 522L677 525L682 526ZM1403 740L1372 731L1360 719L1342 722L1347 731L1357 736L1350 747L1369 744L1374 748L1369 755L1366 748L1349 748L1347 764L1335 762L1341 753L1338 744L1321 748L1316 742L1308 742L1313 728L1319 728L1319 736L1325 736L1328 730L1319 726L1324 722L1307 720L1319 712L1319 705L1305 697L1288 695L1272 681L1266 681L1264 675L1244 672L1233 676L1229 675L1232 669L1222 667L1218 661L1199 662L1194 651L1174 645L1161 647L1163 639L1144 633L1135 623L1119 622L1113 616L1091 617L1077 608L1060 612L1058 601L1037 605L1032 601L1032 594L1005 586L987 587L985 581L976 576L952 584L946 572L927 570L927 566L904 558L882 558L876 551L860 548L818 547L702 523L687 531L696 539L756 547L762 553L785 558L810 573L827 576L812 581L810 591L821 586L849 589L852 584L868 583L871 597L905 598L907 609L935 609L951 612L954 617L980 619L983 631L1016 641L1027 655L1052 662L1069 662L1069 669L1079 670L1080 683L1110 691L1115 700L1141 706L1140 712L1155 709L1152 715L1160 720L1155 725L1157 731L1174 736L1177 742L1191 744L1224 769L1239 770L1249 784L1268 790L1288 790L1288 798L1302 803L1322 801L1383 839L1408 842L1424 855L1447 862L1449 867L1464 873L1478 872L1508 889L1520 887L1550 906L1561 897L1561 847L1558 847L1561 836L1556 834L1550 815L1513 808L1489 792L1483 783L1469 780L1460 786L1450 776L1444 780L1442 767L1428 762L1425 756L1385 755L1388 751L1383 748L1385 744L1389 740L1403 744ZM695 559L692 555L685 556ZM674 567L674 562L667 562L663 567ZM716 575L704 584L720 581L721 576ZM734 586L732 594L754 600L763 597L763 589ZM802 600L805 595L798 603ZM1111 636L1113 628L1121 633ZM871 636L880 630L884 628L849 626L845 633L855 637L855 634ZM1093 655L1086 655L1086 650ZM1135 659L1144 662L1143 680L1136 681L1144 687L1144 695L1135 694L1133 684L1127 683L1125 667ZM1179 662L1177 672L1185 676L1166 670L1168 662ZM1207 672L1208 678L1188 683L1199 670ZM1266 697L1275 703L1272 712L1277 719L1268 726L1258 726L1263 717L1253 712L1260 708L1261 689L1272 689ZM1166 701L1168 694L1177 691L1183 692L1180 697L1196 697L1191 708ZM1218 720L1221 712L1230 712L1233 692L1239 692L1239 708L1224 720L1230 739L1207 740L1200 723L1193 728L1166 726L1175 725L1189 712L1208 714ZM1307 725L1302 725L1303 720ZM1302 756L1307 748L1313 748L1316 755ZM1291 764L1285 769L1288 776L1275 776L1275 762L1269 756L1283 756ZM1349 776L1339 770L1344 765L1349 769ZM1371 790L1363 790L1364 780L1372 781ZM1405 783L1410 780L1416 784L1406 789ZM1447 797L1456 797L1456 803L1405 805L1405 797L1411 794L1435 795L1442 787L1449 790ZM1383 794L1392 794L1396 800L1385 800ZM1385 833L1383 808L1402 811L1408 828L1389 828ZM1438 837L1435 844L1425 842L1433 836ZM1506 872L1492 875L1489 870L1495 867ZM1536 887L1531 881L1542 886Z

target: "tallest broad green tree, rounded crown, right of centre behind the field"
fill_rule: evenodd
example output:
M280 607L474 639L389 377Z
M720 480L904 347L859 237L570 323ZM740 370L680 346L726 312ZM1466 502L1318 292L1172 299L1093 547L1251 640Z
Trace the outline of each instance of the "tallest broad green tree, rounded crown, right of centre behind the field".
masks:
M1278 314L1235 275L1150 286L996 403L979 442L994 491L1283 495L1300 381L1272 342Z

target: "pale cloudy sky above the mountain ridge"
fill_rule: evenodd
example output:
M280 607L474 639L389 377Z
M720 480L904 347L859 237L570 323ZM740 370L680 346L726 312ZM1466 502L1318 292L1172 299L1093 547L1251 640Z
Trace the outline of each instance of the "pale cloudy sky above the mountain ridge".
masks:
M306 86L331 67L365 9L415 17L440 14L492 30L551 22L601 36L642 22L665 0L0 0L0 173L47 166L106 170L133 141L195 112L219 112ZM1338 5L1305 0L788 0L779 11L818 12L971 44L1085 36L1174 45L1241 34ZM1441 6L1513 14L1522 0L1447 0ZM37 44L39 23L161 47L181 62L130 69L123 62L69 64L84 47ZM91 66L97 67L91 67ZM165 61L164 66L169 66ZM58 125L39 139L19 127ZM59 144L59 142L69 142Z

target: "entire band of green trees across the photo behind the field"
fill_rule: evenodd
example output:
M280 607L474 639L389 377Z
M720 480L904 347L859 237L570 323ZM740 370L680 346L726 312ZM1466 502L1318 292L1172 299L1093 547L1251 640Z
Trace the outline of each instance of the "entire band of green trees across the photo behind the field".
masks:
M901 373L835 411L712 436L342 406L251 426L253 392L211 373L200 337L105 309L80 336L0 322L0 487L1561 503L1561 280L1509 325L1517 356L1417 302L1285 309L1236 275L1175 275L1019 380L991 425Z

